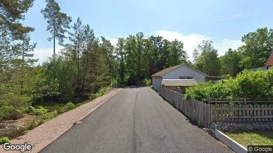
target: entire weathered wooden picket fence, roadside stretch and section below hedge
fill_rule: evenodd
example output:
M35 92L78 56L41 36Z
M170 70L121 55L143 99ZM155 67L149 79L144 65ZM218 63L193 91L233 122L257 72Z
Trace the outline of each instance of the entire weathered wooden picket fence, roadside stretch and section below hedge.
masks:
M185 100L184 95L160 86L158 93L192 121L209 127L215 121L273 121L273 105L228 105L206 104L201 101Z

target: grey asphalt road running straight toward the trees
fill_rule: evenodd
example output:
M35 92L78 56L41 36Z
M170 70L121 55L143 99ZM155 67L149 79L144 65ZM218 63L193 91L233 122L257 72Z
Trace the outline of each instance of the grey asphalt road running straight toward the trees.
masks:
M150 87L126 88L41 152L233 152Z

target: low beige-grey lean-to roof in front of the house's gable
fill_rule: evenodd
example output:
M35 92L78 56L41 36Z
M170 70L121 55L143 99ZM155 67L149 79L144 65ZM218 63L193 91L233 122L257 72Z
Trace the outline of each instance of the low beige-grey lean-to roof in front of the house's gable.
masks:
M163 79L165 86L193 86L197 84L195 79Z

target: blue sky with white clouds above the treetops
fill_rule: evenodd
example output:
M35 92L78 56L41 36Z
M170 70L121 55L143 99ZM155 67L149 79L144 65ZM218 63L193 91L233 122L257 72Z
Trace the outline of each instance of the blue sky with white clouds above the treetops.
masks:
M192 59L193 49L202 40L213 40L219 55L227 48L236 49L241 37L258 28L273 27L273 1L72 1L57 0L61 11L89 24L97 37L104 36L113 44L119 37L143 32L145 37L160 35L178 39ZM53 54L53 42L47 38L47 22L40 10L44 0L36 0L26 13L25 25L35 28L31 33L37 42L34 55L39 63ZM57 49L60 49L57 46Z

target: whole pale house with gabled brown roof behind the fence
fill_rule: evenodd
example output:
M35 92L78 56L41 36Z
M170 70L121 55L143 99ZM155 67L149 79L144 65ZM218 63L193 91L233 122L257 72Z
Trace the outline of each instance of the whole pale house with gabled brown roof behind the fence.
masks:
M156 90L158 90L158 87L162 85L163 81L165 84L173 84L173 80L175 80L175 84L177 84L177 86L180 84L187 87L192 86L195 84L195 82L206 82L208 78L211 78L208 74L203 73L187 64L165 68L153 74L151 77L152 86Z

